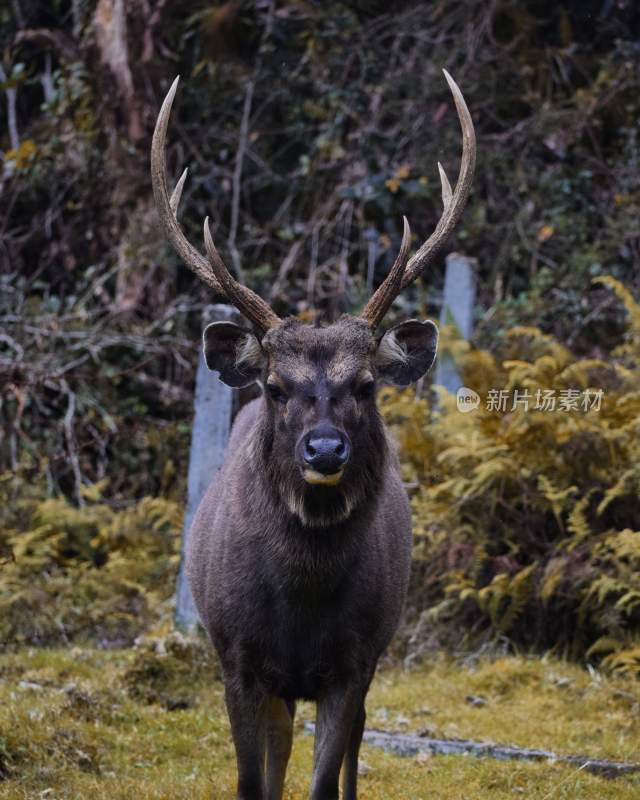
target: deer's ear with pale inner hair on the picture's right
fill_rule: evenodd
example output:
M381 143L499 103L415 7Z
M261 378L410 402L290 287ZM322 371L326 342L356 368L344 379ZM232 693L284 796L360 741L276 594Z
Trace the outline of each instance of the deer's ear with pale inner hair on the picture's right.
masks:
M433 322L410 319L388 330L378 343L381 378L408 386L426 374L436 359L438 329Z

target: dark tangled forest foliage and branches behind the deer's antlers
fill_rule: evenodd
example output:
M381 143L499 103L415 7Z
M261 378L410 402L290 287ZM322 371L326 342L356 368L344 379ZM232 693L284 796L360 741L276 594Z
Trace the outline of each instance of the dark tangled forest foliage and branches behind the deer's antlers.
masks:
M447 67L479 134L451 242L479 259L479 339L518 320L581 352L615 344L620 317L590 278L634 288L640 274L639 14L546 0L5 5L0 467L76 498L104 476L119 496L184 473L208 298L158 235L148 177L178 72L169 164L190 167L184 225L198 242L211 215L280 313L358 307L401 215L416 242L429 233L436 161L455 174L459 157ZM440 280L398 313L437 311Z

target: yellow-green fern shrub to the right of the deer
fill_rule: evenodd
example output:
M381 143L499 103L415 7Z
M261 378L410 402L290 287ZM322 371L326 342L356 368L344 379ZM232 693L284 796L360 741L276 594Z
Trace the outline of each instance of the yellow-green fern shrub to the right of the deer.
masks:
M599 411L511 403L461 414L446 392L429 402L383 391L416 487L416 640L439 623L450 643L503 636L640 672L640 306L617 281L602 281L630 319L610 358L576 360L522 327L493 354L460 341L450 348L481 396L528 391L533 404L538 389L602 388Z

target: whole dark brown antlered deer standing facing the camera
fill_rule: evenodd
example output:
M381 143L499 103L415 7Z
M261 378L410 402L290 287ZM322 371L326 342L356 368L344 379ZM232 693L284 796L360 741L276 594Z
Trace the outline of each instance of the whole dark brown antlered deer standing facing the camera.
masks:
M466 205L476 158L464 97L444 71L462 129L455 189L438 164L444 210L410 258L400 250L359 316L331 324L281 319L225 266L204 221L203 255L171 196L165 143L178 78L159 112L151 177L164 233L182 261L248 325L212 322L207 367L228 386L258 383L234 421L227 455L196 512L186 572L217 651L237 763L237 800L280 800L296 701L316 703L311 800L357 799L365 698L399 624L412 549L396 447L376 405L386 381L408 386L434 363L437 326L377 329L433 261ZM340 780L340 774L342 779Z

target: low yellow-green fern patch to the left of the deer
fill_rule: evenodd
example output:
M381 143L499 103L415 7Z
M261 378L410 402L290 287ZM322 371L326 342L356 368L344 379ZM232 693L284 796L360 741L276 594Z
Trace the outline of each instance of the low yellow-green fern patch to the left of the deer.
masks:
M181 511L145 497L115 510L100 487L83 507L64 498L9 498L0 528L0 646L93 641L126 645L166 613L173 597ZM6 496L1 497L2 493Z

